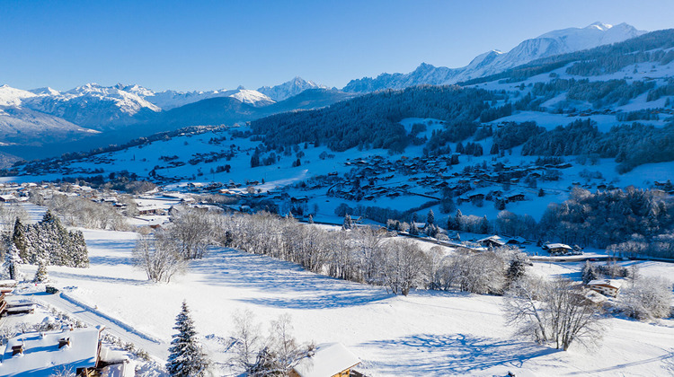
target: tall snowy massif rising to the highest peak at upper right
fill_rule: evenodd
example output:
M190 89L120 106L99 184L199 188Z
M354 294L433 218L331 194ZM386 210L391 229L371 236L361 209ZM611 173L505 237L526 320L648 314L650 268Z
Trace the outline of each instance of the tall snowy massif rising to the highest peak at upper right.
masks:
M382 74L376 78L364 77L348 83L344 92L374 92L381 89L403 89L412 85L443 85L457 83L485 75L494 75L530 61L620 42L644 34L634 26L620 23L616 26L594 22L584 28L550 31L537 38L527 39L508 52L492 50L474 57L467 66L448 68L422 63L409 74Z

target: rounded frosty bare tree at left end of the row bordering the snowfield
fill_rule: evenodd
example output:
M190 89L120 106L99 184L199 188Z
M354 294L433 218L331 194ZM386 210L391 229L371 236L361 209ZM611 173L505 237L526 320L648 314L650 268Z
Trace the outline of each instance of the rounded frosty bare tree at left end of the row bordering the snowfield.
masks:
M140 235L133 250L134 265L142 268L154 282L171 281L186 267L177 246L164 232Z

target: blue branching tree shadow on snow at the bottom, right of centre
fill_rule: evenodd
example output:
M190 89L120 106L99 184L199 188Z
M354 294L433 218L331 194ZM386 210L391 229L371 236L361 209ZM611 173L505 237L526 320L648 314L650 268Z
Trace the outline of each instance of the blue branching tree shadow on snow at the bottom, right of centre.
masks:
M480 374L492 367L521 368L528 360L561 352L534 343L480 338L470 334L417 334L361 344L377 347L382 361L370 362L397 375Z

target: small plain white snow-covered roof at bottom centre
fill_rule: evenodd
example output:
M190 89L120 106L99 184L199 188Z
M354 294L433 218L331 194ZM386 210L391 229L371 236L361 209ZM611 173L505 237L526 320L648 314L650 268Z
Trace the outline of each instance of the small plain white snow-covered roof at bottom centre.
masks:
M358 356L341 343L325 343L316 346L314 355L305 357L293 369L299 377L326 377L358 364Z

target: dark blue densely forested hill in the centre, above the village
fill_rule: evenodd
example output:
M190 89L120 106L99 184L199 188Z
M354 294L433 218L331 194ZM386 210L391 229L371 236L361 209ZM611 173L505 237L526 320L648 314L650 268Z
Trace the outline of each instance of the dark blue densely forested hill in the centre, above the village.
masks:
M267 145L315 143L339 152L362 145L402 152L409 141L400 120L473 122L489 107L485 101L492 99L493 93L478 89L417 86L376 92L320 110L274 115L254 120L251 127Z

